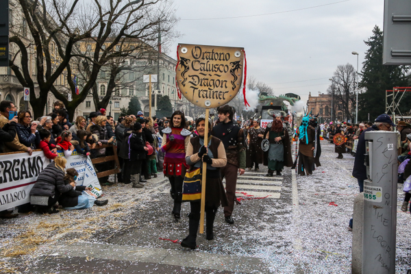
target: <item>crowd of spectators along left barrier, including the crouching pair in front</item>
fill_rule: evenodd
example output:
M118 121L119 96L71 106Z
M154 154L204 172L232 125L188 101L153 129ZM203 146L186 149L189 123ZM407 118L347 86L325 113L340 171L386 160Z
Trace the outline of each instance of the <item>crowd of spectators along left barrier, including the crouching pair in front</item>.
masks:
M114 155L113 147L104 146L114 145L121 165L119 167L121 172L117 175L119 183L131 183L130 175L136 175L134 167L138 166L140 168L138 174L141 173L141 176L133 186L142 188L143 183L151 177L157 177L158 171L162 171L163 155L159 146L162 142L162 129L168 126L169 121L166 117L162 119L145 117L142 112L138 112L137 115L122 116L118 121L114 121L112 116L105 116L104 109L91 112L87 118L77 116L71 124L69 113L61 101L54 103L53 112L34 120L28 110L17 112L12 101L1 101L0 153L24 152L32 155L34 149L42 149L45 156L51 160L51 164L40 173L40 179L31 193L34 196L49 197L47 206L36 207L38 212L58 212L56 209L58 203L60 207L69 209L89 208L93 204L102 206L107 201L92 201L92 199L89 201L82 197L82 191L85 189L69 182L70 179L67 178L70 176L65 171L65 162L58 157L58 150L64 153L65 158L69 158L73 151L88 155L90 158L99 158ZM129 138L132 134L134 134L133 138ZM136 165L136 155L129 153L130 149L136 147L139 149L136 153L138 165ZM114 161L95 164L97 173L110 169L114 169ZM74 176L77 178L77 175L71 175L71 181ZM62 178L66 178L66 183ZM100 177L99 182L103 186L114 184L109 181L108 176ZM59 197L70 202L62 202ZM27 206L19 210L24 211L25 208L27 209ZM0 218L12 218L17 215L8 210L0 212Z

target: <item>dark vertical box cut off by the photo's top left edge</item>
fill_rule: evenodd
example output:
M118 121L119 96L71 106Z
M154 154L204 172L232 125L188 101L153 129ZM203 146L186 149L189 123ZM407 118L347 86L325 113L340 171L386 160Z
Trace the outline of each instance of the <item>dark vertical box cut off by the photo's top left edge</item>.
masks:
M0 0L0 66L9 66L9 0Z

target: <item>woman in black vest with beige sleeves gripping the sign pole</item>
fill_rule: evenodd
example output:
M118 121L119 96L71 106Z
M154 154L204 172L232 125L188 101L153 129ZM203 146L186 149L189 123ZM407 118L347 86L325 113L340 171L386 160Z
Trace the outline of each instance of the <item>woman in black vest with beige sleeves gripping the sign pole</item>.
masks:
M206 131L205 116L200 116L195 122L199 136L192 138L188 144L186 152L186 163L190 165L190 171L202 169L203 162L207 163L206 179L206 238L214 239L213 226L216 212L219 206L228 206L227 195L221 179L220 168L227 164L227 156L223 142L219 138L210 136L212 121L208 119L208 144L204 145L204 135ZM201 193L196 197L197 191L190 191L190 185L184 183L183 201L190 201L189 234L182 241L182 247L190 249L196 248L197 230L200 222ZM194 194L190 194L190 192Z

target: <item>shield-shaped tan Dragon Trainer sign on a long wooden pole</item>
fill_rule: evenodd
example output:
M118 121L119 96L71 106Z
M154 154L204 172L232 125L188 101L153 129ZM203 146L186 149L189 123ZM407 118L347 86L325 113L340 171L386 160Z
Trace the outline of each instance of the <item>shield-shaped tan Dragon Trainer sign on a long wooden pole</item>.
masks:
M204 144L208 144L208 117L210 108L225 105L234 97L242 84L242 71L246 71L245 51L240 47L216 47L179 44L175 82L177 96L206 108ZM246 75L245 75L246 78ZM243 88L245 96L245 83ZM247 103L247 100L245 99ZM206 206L207 163L203 162L201 180L200 233L204 233Z

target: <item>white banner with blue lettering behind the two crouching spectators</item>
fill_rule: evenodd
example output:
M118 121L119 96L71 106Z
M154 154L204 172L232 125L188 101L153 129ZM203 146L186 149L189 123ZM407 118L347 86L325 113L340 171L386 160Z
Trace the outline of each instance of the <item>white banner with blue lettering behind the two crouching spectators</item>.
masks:
M57 151L59 157L64 157L63 151ZM66 169L75 169L79 175L75 181L77 186L87 186L92 188L91 191L86 191L88 195L98 198L101 196L101 186L99 179L97 178L97 173L92 166L91 159L89 156L77 153L73 151L71 156L67 158Z

